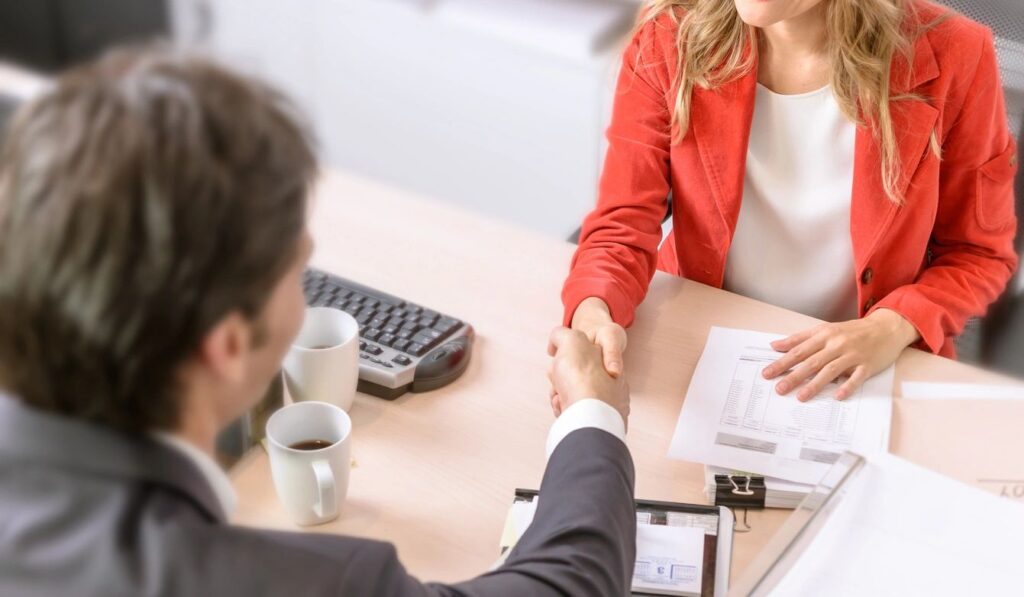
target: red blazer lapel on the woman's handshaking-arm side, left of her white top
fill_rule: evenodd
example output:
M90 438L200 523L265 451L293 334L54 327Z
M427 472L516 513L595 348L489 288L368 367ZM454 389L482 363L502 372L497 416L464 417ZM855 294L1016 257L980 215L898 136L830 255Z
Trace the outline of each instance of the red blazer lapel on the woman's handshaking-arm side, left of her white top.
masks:
M739 217L746 170L746 146L754 119L757 68L714 89L693 89L690 130L718 211L728 247Z

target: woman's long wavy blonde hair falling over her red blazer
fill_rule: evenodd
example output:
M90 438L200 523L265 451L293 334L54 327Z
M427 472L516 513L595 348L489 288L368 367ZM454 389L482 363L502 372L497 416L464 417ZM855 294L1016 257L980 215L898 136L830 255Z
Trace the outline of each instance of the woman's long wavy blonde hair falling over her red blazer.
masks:
M893 58L902 53L912 60L912 37L906 28L913 0L825 0L829 84L840 110L857 125L869 124L882 154L882 184L888 198L901 204L900 164L891 102L924 98L893 95L890 74ZM679 10L682 9L682 10ZM640 25L669 13L678 25L679 62L674 137L689 128L693 88L711 89L750 72L758 57L757 28L744 24L734 0L647 0ZM936 134L931 148L940 157Z

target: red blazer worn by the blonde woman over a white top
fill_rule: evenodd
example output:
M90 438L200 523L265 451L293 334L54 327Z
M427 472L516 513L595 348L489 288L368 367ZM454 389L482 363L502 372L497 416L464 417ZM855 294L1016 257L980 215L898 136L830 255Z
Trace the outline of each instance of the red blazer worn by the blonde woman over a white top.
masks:
M915 18L926 23L943 10L925 2L918 8ZM597 207L584 221L562 290L565 325L595 296L629 326L655 267L722 286L757 73L694 89L690 127L673 144L677 55L667 14L644 25L626 49ZM918 39L910 61L895 58L892 71L894 91L929 101L893 103L903 206L883 190L870 131L857 130L850 234L859 314L892 309L921 333L921 348L952 356L953 337L985 312L1017 267L1017 156L991 33L951 16ZM941 161L929 150L933 130ZM670 190L673 232L659 250Z

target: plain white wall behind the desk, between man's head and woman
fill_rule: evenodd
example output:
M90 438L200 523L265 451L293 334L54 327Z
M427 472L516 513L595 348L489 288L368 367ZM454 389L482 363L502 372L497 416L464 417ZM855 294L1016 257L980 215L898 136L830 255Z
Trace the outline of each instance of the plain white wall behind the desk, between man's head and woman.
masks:
M613 1L211 0L211 45L297 98L328 165L565 238L635 8Z

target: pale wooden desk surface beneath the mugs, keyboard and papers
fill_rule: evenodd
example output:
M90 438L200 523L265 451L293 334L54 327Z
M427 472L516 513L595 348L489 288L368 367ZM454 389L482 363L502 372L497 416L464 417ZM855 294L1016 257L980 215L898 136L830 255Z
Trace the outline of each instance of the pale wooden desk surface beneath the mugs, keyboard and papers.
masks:
M423 580L474 577L497 558L513 491L541 482L553 420L546 345L561 319L573 247L336 172L317 189L311 227L314 265L465 318L478 336L469 369L451 386L393 402L356 396L348 499L338 520L310 530L393 542ZM791 333L814 323L658 273L626 358L637 497L706 503L701 465L666 453L711 326ZM897 387L902 380L1002 379L913 349L897 367ZM231 476L236 522L296 528L262 451ZM735 538L733 579L788 513L750 513L753 530Z

